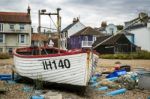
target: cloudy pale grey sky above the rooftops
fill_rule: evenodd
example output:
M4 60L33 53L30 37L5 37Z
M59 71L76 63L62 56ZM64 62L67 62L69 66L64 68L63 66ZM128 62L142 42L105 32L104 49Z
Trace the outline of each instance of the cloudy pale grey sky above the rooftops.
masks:
M100 27L102 21L123 25L140 12L150 15L150 0L0 0L0 11L26 12L28 5L34 31L38 26L38 10L41 9L56 13L56 8L61 8L62 29L76 17L85 26ZM42 16L42 26L55 28L52 20L55 22L56 16Z

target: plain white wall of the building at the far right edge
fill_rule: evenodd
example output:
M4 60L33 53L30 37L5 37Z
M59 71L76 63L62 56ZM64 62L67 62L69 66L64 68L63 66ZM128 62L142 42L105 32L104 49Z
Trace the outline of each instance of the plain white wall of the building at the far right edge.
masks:
M141 47L142 50L150 51L150 29L144 27L133 29L130 32L134 34L135 45Z

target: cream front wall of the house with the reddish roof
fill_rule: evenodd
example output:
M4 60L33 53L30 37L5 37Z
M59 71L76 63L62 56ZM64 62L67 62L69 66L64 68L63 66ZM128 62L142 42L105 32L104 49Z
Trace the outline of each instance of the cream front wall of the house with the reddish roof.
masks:
M4 52L7 51L7 48L18 48L18 47L26 47L31 45L31 24L24 24L24 29L20 29L20 24L13 24L14 29L10 29L9 23L3 24L3 34L5 34L5 42L0 43L0 48L3 48ZM19 43L19 35L25 35L25 43Z

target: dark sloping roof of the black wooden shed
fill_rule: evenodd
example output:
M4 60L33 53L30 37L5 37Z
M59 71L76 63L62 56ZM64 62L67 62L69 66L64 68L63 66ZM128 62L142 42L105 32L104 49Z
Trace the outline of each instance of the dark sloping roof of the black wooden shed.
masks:
M94 48L96 48L97 46L100 46L100 45L114 45L118 41L118 39L120 39L120 37L126 38L124 33L118 33L118 34L113 35L113 36L98 37L92 46Z

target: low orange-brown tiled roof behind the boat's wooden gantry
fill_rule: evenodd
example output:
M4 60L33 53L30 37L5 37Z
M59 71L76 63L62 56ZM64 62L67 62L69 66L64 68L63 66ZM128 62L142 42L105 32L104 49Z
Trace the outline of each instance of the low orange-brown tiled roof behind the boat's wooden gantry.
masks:
M49 38L46 34L33 33L31 36L32 41L48 41Z

